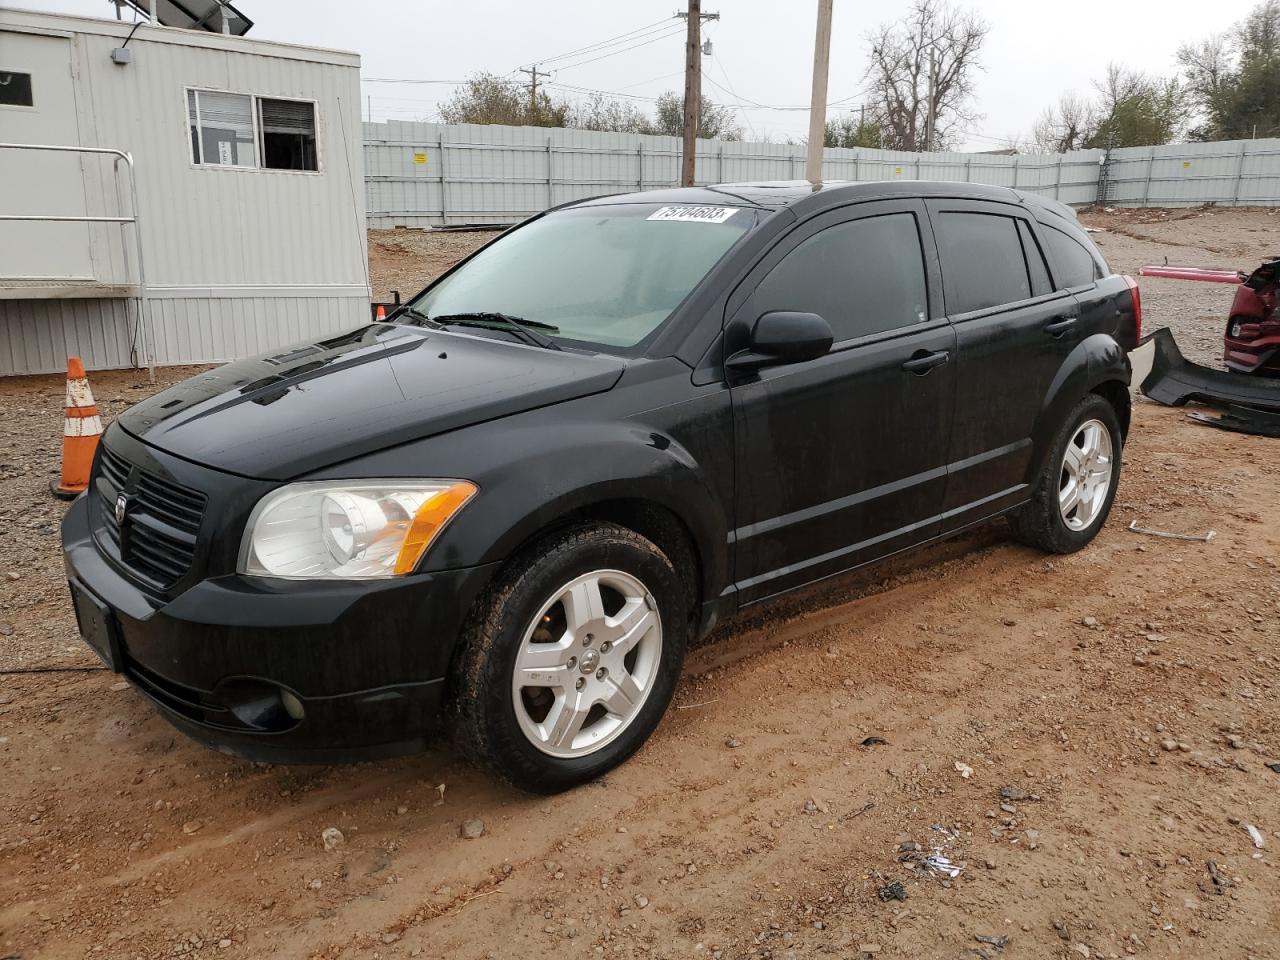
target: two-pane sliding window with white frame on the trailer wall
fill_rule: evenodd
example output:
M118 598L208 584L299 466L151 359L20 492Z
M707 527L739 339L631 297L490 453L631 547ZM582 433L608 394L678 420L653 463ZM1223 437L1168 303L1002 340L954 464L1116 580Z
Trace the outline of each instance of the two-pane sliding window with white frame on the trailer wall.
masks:
M187 91L193 163L316 170L315 104L212 90Z

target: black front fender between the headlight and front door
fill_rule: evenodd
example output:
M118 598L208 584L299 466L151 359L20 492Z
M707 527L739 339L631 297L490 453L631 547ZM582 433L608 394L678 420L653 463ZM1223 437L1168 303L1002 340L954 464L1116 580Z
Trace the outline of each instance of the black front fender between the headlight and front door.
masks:
M694 404L622 420L595 419L590 402L557 406L406 444L348 462L342 472L456 476L479 485L431 544L424 571L504 561L557 521L609 500L663 507L692 536L704 599L730 582L730 492L717 488L717 477L723 485L732 474L714 463L731 465L722 447L732 433L727 394Z

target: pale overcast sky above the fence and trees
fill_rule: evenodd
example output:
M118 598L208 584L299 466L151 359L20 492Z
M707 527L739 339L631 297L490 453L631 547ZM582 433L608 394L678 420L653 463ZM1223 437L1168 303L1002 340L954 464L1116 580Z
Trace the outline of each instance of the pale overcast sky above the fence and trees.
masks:
M1108 61L1151 73L1176 72L1174 54L1240 20L1256 0L974 0L991 23L974 108L980 119L964 148L1006 146L1030 132L1061 92L1092 92ZM654 97L682 86L680 0L236 0L255 22L251 36L357 51L365 78L458 81L477 70L521 78L520 67L544 63L557 95L566 86ZM114 17L110 0L17 0L59 13ZM901 17L910 0L878 4L835 0L829 115L856 109L865 86L867 33ZM713 54L703 58L703 92L740 104L744 136L800 138L808 131L809 72L817 0L703 0L722 19L707 24ZM1212 17L1207 22L1206 14ZM640 31L640 28L646 28ZM618 35L626 42L552 60ZM634 49L625 49L634 47ZM586 63L591 60L591 63ZM561 86L557 86L561 84ZM718 86L717 86L718 84ZM374 119L438 118L445 83L364 82ZM648 109L650 100L635 100ZM763 106L749 106L759 104Z

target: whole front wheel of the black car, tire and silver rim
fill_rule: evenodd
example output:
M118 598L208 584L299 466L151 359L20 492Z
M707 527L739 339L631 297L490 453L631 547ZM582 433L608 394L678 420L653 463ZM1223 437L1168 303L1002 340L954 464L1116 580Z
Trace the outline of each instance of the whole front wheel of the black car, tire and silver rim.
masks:
M671 703L689 634L685 590L639 534L556 534L477 602L453 669L454 732L479 765L554 794L634 754Z

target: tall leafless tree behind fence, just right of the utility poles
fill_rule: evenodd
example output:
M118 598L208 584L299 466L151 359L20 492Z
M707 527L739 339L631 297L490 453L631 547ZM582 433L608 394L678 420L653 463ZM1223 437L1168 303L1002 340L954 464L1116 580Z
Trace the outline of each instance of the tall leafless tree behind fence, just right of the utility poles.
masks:
M991 31L945 0L916 0L905 20L870 37L870 118L891 150L938 150L955 141L969 111L978 55Z

